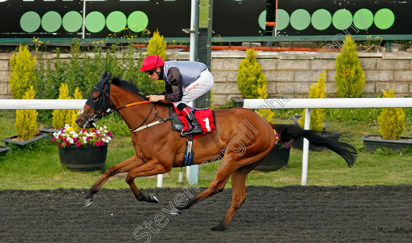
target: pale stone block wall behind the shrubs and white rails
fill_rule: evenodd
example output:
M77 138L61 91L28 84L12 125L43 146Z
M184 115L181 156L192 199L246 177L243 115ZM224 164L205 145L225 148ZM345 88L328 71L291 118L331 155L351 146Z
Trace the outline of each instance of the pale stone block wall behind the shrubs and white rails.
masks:
M268 81L267 90L271 96L279 96L281 89L287 87L286 81L296 80L296 74L307 71L307 65L311 60L321 58L324 65L319 65L326 71L326 84L329 97L335 96L335 56L319 56L314 52L258 52L260 63ZM46 58L54 58L54 54L45 55ZM213 87L214 104L227 104L231 97L241 96L237 89L236 75L239 62L244 59L246 52L226 51L213 52L211 72L215 85ZM64 56L62 56L64 57ZM66 54L67 57L67 54ZM397 97L412 96L412 54L406 52L397 53L359 53L360 63L365 72L365 87L363 97L377 97L382 89L393 88ZM12 99L8 79L11 73L9 60L11 54L0 54L0 99ZM137 58L137 55L136 55ZM184 52L169 53L167 59L188 60L189 54ZM313 67L312 67L313 69ZM309 75L309 84L316 79ZM293 92L294 98L308 96L308 85ZM298 85L295 85L296 87Z

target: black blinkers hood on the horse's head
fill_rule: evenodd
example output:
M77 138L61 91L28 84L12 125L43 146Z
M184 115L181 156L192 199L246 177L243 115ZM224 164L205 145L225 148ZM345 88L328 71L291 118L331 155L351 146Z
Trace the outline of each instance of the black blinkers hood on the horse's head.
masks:
M102 79L93 87L92 92L90 92L89 98L86 104L95 110L100 110L103 112L108 112L111 109L110 105L110 83L111 73L107 75L107 71L104 72ZM97 101L92 101L92 94L94 92L99 93L99 99Z

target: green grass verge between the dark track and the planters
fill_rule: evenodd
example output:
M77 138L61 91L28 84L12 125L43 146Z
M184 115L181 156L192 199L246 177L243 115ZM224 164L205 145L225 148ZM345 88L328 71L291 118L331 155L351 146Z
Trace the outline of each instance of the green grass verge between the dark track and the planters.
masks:
M375 111L373 111L375 112ZM0 111L1 138L15 135L14 111ZM280 115L281 116L281 115ZM285 117L286 118L286 117ZM106 119L106 118L105 118ZM366 134L379 134L375 121L331 119L327 115L330 130L345 132L359 151L359 157L352 168L348 168L342 158L332 151L309 152L308 185L398 185L412 182L412 149L403 153L379 149L375 153L363 152L359 138ZM130 158L133 154L127 127L117 118L105 120L115 127L114 139L109 143L105 169ZM292 123L290 119L276 119L276 123ZM411 126L407 121L406 136L411 136ZM126 131L126 132L125 132ZM213 164L205 166L205 174L211 175ZM182 169L185 174L185 168ZM183 187L178 183L180 168L173 168L163 178L164 187ZM39 141L24 149L13 146L12 150L0 158L0 189L56 189L56 188L90 188L101 176L101 171L73 172L60 164L55 143ZM277 171L263 172L254 170L248 175L247 185L286 186L300 185L302 174L302 151L291 149L289 164ZM211 180L199 178L198 187L207 187ZM136 178L139 188L156 187L156 176ZM124 177L108 180L103 188L128 188ZM231 187L230 180L226 187Z

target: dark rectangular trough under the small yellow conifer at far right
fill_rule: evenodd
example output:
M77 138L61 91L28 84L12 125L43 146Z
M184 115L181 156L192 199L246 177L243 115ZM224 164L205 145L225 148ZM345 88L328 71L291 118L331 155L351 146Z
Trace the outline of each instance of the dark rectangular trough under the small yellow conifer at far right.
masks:
M373 138L373 137L382 137L382 135L366 135L360 138L363 141L363 147L365 152L371 152L376 150L379 147L388 148L391 150L405 150L408 146L412 145L412 137L404 137L404 139L410 140L390 140L383 138Z

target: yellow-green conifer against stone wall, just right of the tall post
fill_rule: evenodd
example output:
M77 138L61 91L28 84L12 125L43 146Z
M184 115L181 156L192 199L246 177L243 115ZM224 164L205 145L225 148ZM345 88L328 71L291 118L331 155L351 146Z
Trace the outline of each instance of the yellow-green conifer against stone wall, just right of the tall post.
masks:
M246 50L246 59L239 63L237 70L237 88L246 99L257 99L258 88L263 88L267 82L256 56L255 50Z

